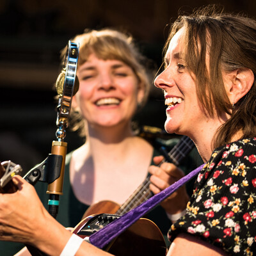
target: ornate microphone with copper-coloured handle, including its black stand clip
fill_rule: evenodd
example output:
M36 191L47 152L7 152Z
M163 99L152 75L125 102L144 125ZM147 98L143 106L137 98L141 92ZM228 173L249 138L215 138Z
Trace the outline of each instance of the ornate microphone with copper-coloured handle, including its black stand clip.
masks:
M65 172L65 158L67 154L67 142L64 141L68 127L68 117L72 104L72 97L79 88L76 76L77 62L79 56L79 44L68 41L67 53L63 69L56 81L58 93L58 114L56 125L56 141L52 141L51 154L40 164L31 169L24 179L35 185L38 180L48 183L46 193L49 194L49 213L56 218L60 204L60 195L63 195L63 179ZM33 256L45 255L33 246L27 246Z

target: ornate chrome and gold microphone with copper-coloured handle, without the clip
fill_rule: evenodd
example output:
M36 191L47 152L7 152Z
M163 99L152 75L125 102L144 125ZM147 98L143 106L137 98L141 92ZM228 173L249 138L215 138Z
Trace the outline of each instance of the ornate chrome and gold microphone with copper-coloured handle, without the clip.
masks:
M56 218L60 195L63 195L63 178L65 172L65 157L67 154L67 142L64 141L68 117L72 104L72 97L79 89L79 81L76 76L77 61L79 56L79 44L68 41L67 52L63 68L56 80L56 92L58 93L56 141L52 141L51 154L62 156L60 177L48 184L46 193L49 194L49 213Z

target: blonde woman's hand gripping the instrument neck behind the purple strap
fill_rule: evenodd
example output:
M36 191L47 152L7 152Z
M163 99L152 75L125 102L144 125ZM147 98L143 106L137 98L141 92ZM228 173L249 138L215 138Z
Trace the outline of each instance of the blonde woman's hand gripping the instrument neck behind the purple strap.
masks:
M158 165L163 161L163 158L163 156L154 157L154 163ZM163 163L160 167L152 165L148 168L148 172L152 174L149 188L154 194L168 188L174 182L184 177L184 172L172 163ZM186 186L182 186L168 198L164 199L163 202L161 202L161 206L168 214L176 214L186 209L188 201L189 196L186 191Z

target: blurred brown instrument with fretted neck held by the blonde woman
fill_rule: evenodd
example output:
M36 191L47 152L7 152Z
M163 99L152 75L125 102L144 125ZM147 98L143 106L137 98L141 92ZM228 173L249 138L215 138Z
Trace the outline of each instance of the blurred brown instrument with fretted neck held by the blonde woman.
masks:
M172 148L172 150L170 150L168 156L165 158L168 159L168 161L172 161L175 165L179 165L180 161L188 155L194 146L195 144L190 138L182 136L179 142ZM164 161L165 160L160 164ZM123 215L126 212L131 211L152 196L152 192L149 189L149 179L150 177L148 176L121 206L110 200L100 201L91 205L86 212L84 212L82 220L92 214L109 213Z

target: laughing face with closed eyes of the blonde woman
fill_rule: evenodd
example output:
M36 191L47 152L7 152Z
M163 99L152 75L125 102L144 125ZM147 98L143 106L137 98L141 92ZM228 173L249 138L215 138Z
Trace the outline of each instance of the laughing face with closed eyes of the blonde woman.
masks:
M143 98L138 77L119 60L102 60L90 54L77 68L77 106L89 125L129 125Z

